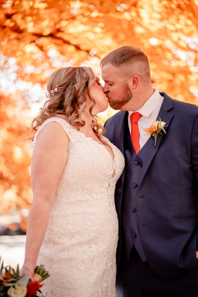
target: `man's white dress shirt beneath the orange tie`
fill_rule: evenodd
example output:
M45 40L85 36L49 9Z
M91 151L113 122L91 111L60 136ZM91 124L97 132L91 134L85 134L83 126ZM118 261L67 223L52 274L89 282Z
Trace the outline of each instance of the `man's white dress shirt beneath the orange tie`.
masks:
M137 122L139 132L140 132L140 149L142 148L143 145L145 145L147 140L151 137L151 134L147 135L144 129L150 127L152 125L152 122L157 120L157 116L164 99L164 97L159 94L157 89L153 89L153 90L155 90L153 95L145 102L145 104L139 110L129 111L129 115L128 115L130 134L131 134L131 119L130 119L131 114L133 112L138 111L142 115ZM161 119L161 121L163 121L163 119ZM153 138L153 141L154 141L154 138Z

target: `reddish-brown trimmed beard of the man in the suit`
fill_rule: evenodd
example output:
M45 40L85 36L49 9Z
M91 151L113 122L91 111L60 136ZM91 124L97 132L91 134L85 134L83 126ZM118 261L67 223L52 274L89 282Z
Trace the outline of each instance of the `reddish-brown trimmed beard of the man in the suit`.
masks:
M128 103L133 97L132 91L130 90L127 83L124 84L123 96L120 99L113 99L108 94L108 92L106 93L106 95L107 95L107 97L110 98L110 100L109 100L110 107L115 110L121 109L122 106L124 106L126 103Z

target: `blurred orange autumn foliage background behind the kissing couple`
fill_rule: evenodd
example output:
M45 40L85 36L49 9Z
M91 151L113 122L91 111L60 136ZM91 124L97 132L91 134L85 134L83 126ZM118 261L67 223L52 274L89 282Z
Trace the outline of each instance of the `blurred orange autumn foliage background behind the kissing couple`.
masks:
M198 0L0 1L0 255L23 262L32 202L32 119L58 68L90 66L133 45L148 56L153 87L198 103ZM104 121L116 111L99 115Z

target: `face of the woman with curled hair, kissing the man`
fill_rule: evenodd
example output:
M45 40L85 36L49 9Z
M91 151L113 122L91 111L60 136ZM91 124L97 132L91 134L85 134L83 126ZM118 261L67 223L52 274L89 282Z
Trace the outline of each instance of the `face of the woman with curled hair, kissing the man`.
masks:
M109 99L106 94L103 92L103 87L100 85L99 78L97 77L94 83L91 85L90 93L95 100L95 105L92 113L97 114L107 109ZM91 100L91 104L93 101Z

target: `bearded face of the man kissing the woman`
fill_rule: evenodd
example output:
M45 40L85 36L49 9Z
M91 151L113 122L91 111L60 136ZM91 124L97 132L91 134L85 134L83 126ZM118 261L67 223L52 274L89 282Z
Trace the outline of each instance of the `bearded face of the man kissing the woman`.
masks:
M132 99L132 91L127 81L123 80L118 67L112 64L102 66L103 91L109 98L109 105L115 110L125 110L124 105Z

